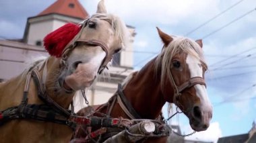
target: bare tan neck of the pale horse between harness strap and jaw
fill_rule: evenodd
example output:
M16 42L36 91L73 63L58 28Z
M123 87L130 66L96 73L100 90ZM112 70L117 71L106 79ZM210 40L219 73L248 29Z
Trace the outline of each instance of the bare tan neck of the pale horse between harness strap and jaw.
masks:
M43 69L40 70L42 76ZM47 61L46 93L61 107L68 108L75 93L66 93L63 90L56 90L60 72L60 59L51 56Z

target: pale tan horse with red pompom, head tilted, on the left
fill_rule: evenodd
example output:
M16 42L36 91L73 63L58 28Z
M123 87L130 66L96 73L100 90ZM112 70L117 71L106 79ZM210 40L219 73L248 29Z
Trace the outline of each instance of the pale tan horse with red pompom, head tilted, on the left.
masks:
M77 28L71 41L65 41ZM64 33L63 37L58 32ZM47 50L52 56L0 83L0 142L69 142L73 130L65 119L71 114L67 109L75 92L89 87L128 41L125 24L106 13L103 1L96 14L58 32L44 41L50 40ZM57 41L51 42L52 37ZM61 42L68 43L57 48Z

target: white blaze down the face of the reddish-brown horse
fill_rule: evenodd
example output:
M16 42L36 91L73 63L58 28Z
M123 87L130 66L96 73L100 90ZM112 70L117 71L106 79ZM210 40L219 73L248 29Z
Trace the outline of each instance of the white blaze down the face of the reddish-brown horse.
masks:
M188 54L186 62L189 65L189 71L190 71L191 78L192 77L203 77L203 68L201 66L201 62L197 58L195 58L195 56ZM201 106L204 107L203 110L205 110L205 107L210 107L212 109L212 104L207 95L205 86L197 84L194 87L195 87L197 97L199 97L199 99L201 101Z

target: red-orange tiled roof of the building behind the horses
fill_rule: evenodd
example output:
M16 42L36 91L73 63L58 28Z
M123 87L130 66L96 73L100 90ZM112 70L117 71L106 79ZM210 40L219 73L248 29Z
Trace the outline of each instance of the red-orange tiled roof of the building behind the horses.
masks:
M86 19L86 17L88 17L86 9L84 9L78 0L57 0L38 15L46 15L51 13L78 17L81 19Z

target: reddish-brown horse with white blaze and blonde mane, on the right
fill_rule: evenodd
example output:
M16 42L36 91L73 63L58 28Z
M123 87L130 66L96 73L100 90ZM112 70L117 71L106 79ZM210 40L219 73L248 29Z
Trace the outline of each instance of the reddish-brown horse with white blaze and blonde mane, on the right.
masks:
M164 43L162 52L127 77L122 85L123 92L117 91L92 116L102 115L100 112L110 113L110 117L155 120L164 103L168 102L175 103L187 115L193 130L206 130L212 119L212 105L205 89L207 65L203 58L203 44L201 40L169 36L159 29L158 34ZM87 112L88 108L84 108L79 114L88 115ZM75 137L87 136L85 130L84 126L77 128ZM166 142L166 139L150 138L147 142Z

